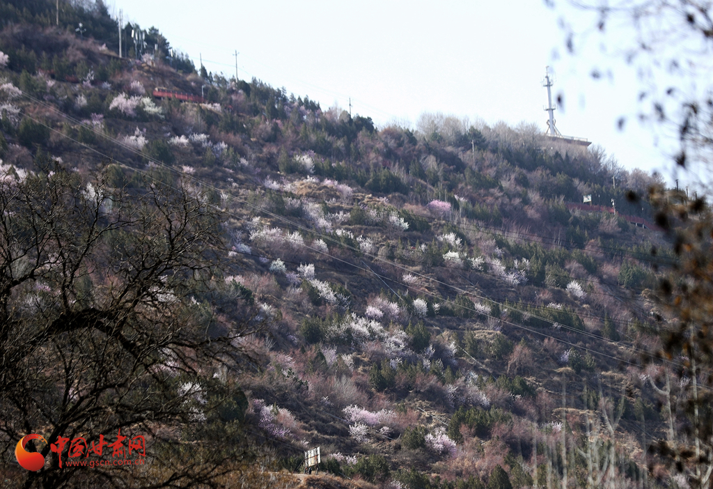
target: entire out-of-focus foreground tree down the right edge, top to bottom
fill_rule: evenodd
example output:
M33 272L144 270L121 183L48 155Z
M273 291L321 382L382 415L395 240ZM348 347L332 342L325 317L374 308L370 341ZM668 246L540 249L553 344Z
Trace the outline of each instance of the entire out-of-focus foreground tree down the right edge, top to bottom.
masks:
M684 171L681 176L697 190L690 195L661 187L650 190L657 224L672 240L677 260L671 269L661 271L657 283L652 314L660 320L657 334L662 346L647 358L642 379L657 395L664 421L665 434L652 442L650 450L660 458L649 458L650 470L655 471L663 460L670 468L672 485L709 488L713 486L713 228L710 207L698 195L713 195L713 86L708 74L713 6L705 0L570 4L592 11L603 36L611 36L613 28L617 51L640 68L647 82L639 98L650 103L650 110L640 116L675 131L679 150L672 169L677 176ZM568 31L570 52L577 41L574 31ZM595 68L592 76L600 78L601 72ZM624 123L625 118L620 118L620 127ZM637 200L633 192L630 197Z

